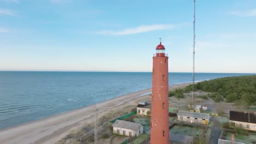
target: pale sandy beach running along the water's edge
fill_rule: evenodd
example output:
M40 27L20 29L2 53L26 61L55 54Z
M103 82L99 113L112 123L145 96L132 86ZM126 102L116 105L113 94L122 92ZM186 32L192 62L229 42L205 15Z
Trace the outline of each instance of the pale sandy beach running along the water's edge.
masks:
M171 88L184 87L190 83L172 85ZM99 113L107 112L114 107L133 104L135 100L148 97L151 88L126 94L98 103ZM95 105L60 113L36 121L17 125L0 131L0 143L55 143L71 131L94 121Z

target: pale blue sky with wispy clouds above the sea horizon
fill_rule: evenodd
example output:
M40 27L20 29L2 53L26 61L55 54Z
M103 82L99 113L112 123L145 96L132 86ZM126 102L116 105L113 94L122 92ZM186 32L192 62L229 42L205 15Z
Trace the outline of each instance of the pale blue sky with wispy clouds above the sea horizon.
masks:
M256 73L256 1L196 1L196 72ZM193 0L0 0L0 70L191 72Z

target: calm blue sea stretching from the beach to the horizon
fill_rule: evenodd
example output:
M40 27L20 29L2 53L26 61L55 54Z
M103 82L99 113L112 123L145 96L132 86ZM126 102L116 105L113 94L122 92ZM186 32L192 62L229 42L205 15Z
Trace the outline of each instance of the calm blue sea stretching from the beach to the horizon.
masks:
M249 74L196 73L195 80ZM191 73L170 73L170 85L191 82ZM0 129L141 91L152 73L0 71Z

